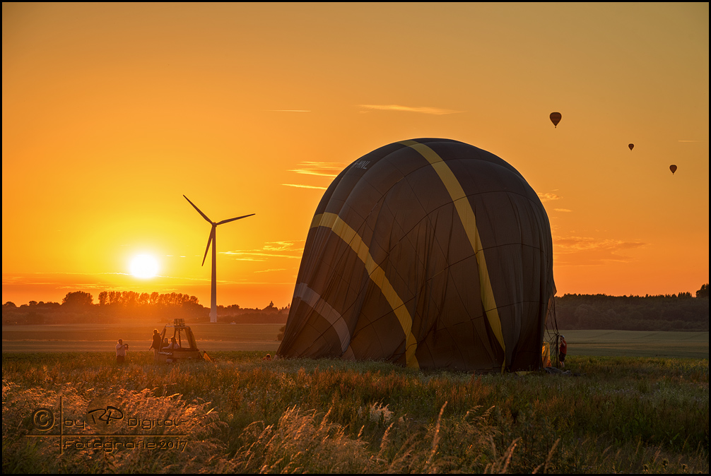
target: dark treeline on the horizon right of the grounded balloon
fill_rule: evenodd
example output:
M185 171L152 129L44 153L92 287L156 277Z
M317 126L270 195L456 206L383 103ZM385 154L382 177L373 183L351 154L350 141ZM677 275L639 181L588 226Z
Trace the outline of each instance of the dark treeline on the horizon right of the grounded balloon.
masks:
M705 292L704 292L705 291ZM559 329L709 330L708 284L691 293L661 296L565 294L555 298Z

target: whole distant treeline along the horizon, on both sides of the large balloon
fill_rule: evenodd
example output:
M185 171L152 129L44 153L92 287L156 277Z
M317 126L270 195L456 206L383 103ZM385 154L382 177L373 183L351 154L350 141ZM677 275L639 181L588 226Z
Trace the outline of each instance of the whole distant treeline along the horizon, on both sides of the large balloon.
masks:
M90 293L67 293L62 303L30 301L2 306L3 325L119 323L124 320L172 320L209 322L210 308L198 298L181 293L135 293L102 291L98 303ZM691 293L658 296L607 296L606 294L565 294L555 298L560 329L614 330L709 330L708 283ZM218 305L218 322L237 324L286 323L289 306L242 308L239 304Z

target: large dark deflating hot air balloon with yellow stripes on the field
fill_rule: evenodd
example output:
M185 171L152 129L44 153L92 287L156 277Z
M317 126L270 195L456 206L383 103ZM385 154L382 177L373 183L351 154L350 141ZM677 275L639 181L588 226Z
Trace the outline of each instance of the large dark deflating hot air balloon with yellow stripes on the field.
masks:
M515 168L449 139L389 144L324 193L278 354L538 369L552 270L545 209Z

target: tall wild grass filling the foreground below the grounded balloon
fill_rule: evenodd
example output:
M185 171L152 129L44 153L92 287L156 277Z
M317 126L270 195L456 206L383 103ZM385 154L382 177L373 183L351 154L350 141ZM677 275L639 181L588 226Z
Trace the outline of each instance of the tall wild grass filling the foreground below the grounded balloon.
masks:
M3 355L3 472L709 470L707 359L570 356L566 376L260 352L174 365L136 352L122 367L91 356ZM60 454L58 438L26 436L34 409L57 409L59 396L72 415L112 399L126 414L179 419L184 450Z

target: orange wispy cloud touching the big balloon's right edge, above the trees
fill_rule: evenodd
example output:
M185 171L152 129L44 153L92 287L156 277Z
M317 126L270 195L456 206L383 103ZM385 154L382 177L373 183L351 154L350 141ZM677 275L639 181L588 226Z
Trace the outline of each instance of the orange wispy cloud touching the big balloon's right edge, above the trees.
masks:
M631 249L646 247L644 242L625 242L619 239L599 239L591 237L554 237L553 251L557 266L598 265L608 261L629 263L625 254Z

